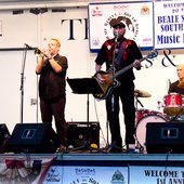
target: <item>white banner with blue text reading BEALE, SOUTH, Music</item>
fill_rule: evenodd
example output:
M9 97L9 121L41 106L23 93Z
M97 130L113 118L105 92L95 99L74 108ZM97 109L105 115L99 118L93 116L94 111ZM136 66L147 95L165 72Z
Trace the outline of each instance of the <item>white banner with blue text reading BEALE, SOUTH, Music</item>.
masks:
M159 1L154 3L155 49L183 49L184 2Z

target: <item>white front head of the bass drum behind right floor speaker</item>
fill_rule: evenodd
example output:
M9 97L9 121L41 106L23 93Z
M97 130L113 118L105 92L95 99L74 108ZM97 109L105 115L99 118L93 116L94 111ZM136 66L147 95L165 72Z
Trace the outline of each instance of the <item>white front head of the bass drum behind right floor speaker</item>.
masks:
M141 147L143 148L143 152L146 152L146 124L147 122L167 122L167 120L158 115L150 115L142 118L136 127L136 140Z

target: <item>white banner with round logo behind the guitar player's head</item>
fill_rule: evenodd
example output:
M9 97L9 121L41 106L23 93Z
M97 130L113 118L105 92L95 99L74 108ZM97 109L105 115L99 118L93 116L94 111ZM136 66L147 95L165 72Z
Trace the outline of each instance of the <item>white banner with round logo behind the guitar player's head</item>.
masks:
M121 18L128 39L142 49L154 45L153 2L91 3L89 4L90 50L98 50L106 39L113 38L111 18Z

